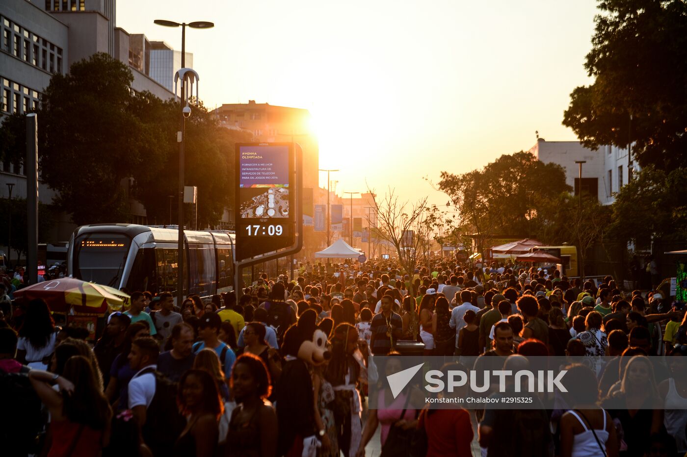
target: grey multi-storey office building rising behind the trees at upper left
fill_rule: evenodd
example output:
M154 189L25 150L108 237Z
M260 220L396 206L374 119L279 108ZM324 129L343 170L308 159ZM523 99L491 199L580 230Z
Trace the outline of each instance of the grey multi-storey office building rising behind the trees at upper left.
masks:
M36 109L54 73L65 74L74 62L97 52L131 69L134 91L149 91L161 99L174 97L173 89L150 77L156 42L116 27L115 12L115 0L1 1L0 121ZM168 79L177 69L168 69ZM26 198L25 174L21 163L0 163L0 198L8 198L10 189L12 198ZM39 180L39 196L49 204L55 192ZM136 220L145 220L142 205L132 202L131 208ZM74 228L66 215L60 215L56 226L55 240L68 239Z

